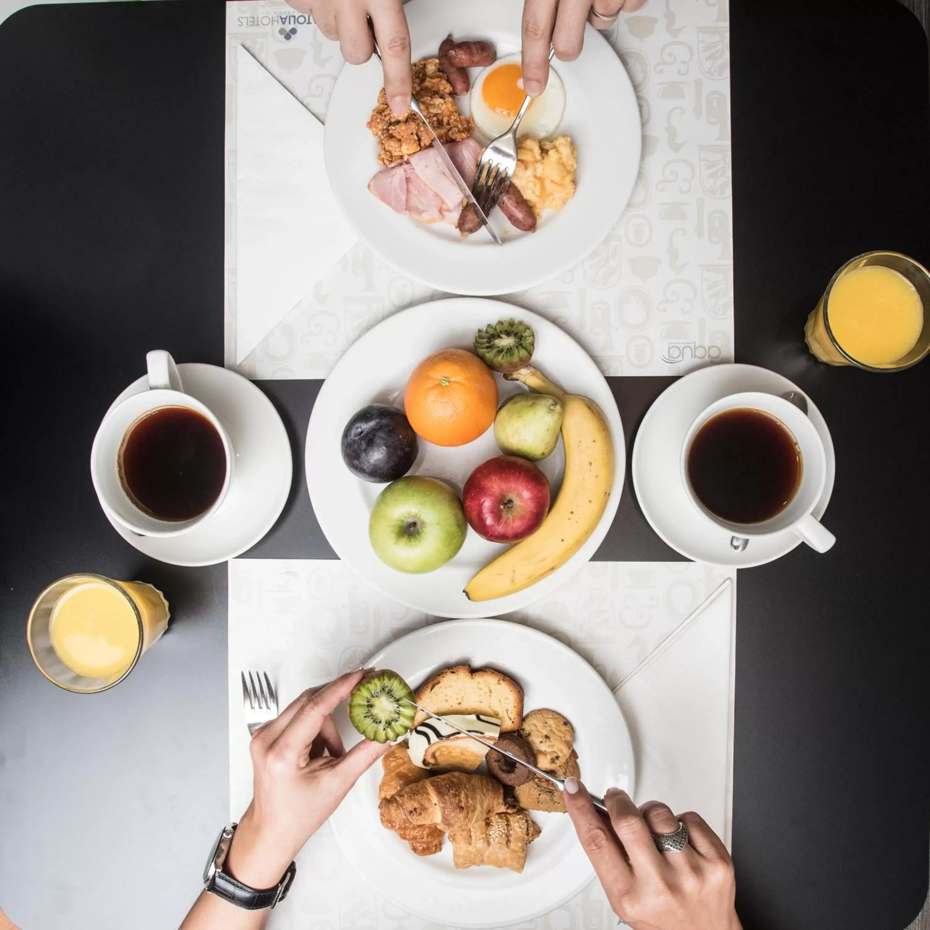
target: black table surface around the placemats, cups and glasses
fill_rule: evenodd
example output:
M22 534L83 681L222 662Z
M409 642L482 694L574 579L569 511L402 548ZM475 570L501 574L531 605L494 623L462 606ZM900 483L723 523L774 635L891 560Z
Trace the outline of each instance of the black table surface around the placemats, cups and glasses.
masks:
M850 256L930 259L926 38L893 0L812 0L734 5L731 41L737 361L797 381L830 423L839 539L739 575L738 910L748 928L898 930L927 891L930 363L819 365L802 326ZM140 556L87 470L147 350L222 363L223 56L219 4L0 27L0 907L26 930L177 923L227 816L226 568ZM612 379L630 441L670 380ZM249 554L332 557L302 479L319 382L261 387L296 479ZM597 557L677 558L629 486ZM33 668L24 622L88 568L152 581L174 617L124 684L74 697Z

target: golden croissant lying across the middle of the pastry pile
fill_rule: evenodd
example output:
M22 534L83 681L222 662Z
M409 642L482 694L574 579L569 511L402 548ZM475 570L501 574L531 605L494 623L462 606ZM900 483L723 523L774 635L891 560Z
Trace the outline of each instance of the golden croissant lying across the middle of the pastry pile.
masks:
M426 778L407 785L379 804L381 823L398 832L410 824L467 830L492 814L515 809L504 801L504 788L499 781L467 772Z

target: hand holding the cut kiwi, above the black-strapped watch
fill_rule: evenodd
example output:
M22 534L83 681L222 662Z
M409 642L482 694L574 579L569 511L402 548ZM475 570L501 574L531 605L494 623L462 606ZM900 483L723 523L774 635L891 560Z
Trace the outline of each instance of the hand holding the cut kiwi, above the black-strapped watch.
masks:
M239 882L252 888L280 882L358 777L390 748L363 739L346 752L330 716L363 673L350 671L304 691L252 737L255 797L239 821L225 866Z

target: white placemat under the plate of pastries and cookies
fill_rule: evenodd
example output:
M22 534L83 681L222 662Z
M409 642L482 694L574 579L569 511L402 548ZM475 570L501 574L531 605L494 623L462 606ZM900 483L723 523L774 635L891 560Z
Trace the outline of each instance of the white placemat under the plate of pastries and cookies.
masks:
M729 579L719 614L684 621ZM619 692L628 718L630 701L624 692L634 682L649 694L650 667L665 661L663 653L681 662L689 653L701 659L685 669L688 687L715 690L726 698L716 703L719 715L714 756L705 769L718 772L705 778L703 796L688 790L680 798L686 806L711 807L716 830L729 839L732 810L732 682L735 633L736 573L695 563L592 562L559 591L532 608L508 616L558 637L588 659L612 688L627 680ZM724 622L721 623L720 621ZM728 625L727 625L727 620ZM229 700L230 700L230 807L233 819L242 815L251 799L252 773L248 734L242 710L240 669L268 671L282 706L311 684L318 684L365 661L381 646L431 622L416 611L397 604L368 587L344 563L323 560L235 559L229 566ZM698 646L699 644L699 646ZM644 665L644 660L656 658ZM652 688L658 679L651 676ZM719 685L724 684L721 688ZM630 698L633 693L630 692ZM635 701L633 701L635 703ZM699 702L688 700L689 706ZM642 706L642 705L641 705ZM711 705L704 702L702 707ZM686 713L684 706L681 715ZM683 718L684 719L684 718ZM635 737L636 724L628 721ZM686 721L685 721L686 725ZM657 764L663 747L644 752L637 745L637 779L649 790L658 785ZM644 757L644 758L641 758ZM645 765L643 766L644 763ZM582 761L583 764L583 761ZM687 765L686 759L682 760ZM643 777L641 777L643 768ZM685 779L690 785L690 779ZM668 779L667 779L668 781ZM681 783L681 782L680 782ZM638 792L637 792L638 793ZM699 793L699 792L698 792ZM639 802L648 800L637 797ZM428 924L379 897L343 856L327 826L314 835L298 857L299 878L286 901L271 915L272 930L312 926L317 930L404 926L408 930L435 930ZM545 917L521 926L525 930L551 930L553 926L613 930L617 919L607 905L600 885L584 892Z

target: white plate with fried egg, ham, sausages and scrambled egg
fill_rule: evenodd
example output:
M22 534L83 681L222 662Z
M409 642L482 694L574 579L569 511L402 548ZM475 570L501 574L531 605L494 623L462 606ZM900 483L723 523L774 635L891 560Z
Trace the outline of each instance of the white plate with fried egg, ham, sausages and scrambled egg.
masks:
M414 92L469 183L482 149L509 128L523 100L522 9L519 0L405 5ZM356 232L395 268L455 294L508 294L589 255L617 223L636 180L636 95L616 52L591 26L578 60L553 60L520 134L511 190L489 218L502 247L485 230L459 232L466 219L458 188L430 151L419 117L390 112L377 59L339 73L326 113L326 172Z

